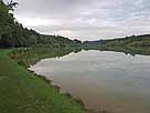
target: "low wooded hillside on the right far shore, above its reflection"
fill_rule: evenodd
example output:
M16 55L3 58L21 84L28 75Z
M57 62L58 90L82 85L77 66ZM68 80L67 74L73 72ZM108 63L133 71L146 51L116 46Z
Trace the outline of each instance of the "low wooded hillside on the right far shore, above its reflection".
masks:
M85 47L137 47L148 48L150 47L150 34L131 35L111 40L98 40L98 41L85 41Z

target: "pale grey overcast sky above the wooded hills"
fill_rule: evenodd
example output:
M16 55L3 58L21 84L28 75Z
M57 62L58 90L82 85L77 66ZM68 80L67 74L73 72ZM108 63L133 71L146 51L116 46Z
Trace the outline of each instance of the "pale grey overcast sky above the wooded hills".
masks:
M150 33L150 0L13 0L15 18L40 33L98 40Z

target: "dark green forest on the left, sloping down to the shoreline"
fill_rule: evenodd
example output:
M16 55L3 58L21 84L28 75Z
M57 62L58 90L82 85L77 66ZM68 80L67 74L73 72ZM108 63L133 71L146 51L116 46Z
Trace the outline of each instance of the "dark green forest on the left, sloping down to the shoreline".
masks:
M61 35L44 35L32 29L24 28L13 17L13 10L18 6L11 1L6 4L0 0L0 47L18 48L49 44L53 47L76 45L81 43L78 40L69 40Z

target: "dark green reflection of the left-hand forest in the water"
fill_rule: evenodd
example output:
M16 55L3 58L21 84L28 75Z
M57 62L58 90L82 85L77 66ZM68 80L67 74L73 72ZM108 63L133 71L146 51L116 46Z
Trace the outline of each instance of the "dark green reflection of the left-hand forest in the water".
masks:
M23 66L30 66L36 62L39 62L41 59L46 58L60 58L66 54L69 54L71 52L79 52L82 51L81 48L53 48L51 45L49 47L32 47L32 48L19 48L15 49L10 53L10 56L12 59L15 59L15 61L23 65Z

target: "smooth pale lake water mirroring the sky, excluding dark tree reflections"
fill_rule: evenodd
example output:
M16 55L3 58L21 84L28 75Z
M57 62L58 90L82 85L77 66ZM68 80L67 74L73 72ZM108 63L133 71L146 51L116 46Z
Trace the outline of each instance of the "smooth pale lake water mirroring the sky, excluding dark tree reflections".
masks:
M86 107L110 113L150 113L150 56L81 51L43 59L30 70L53 80Z

